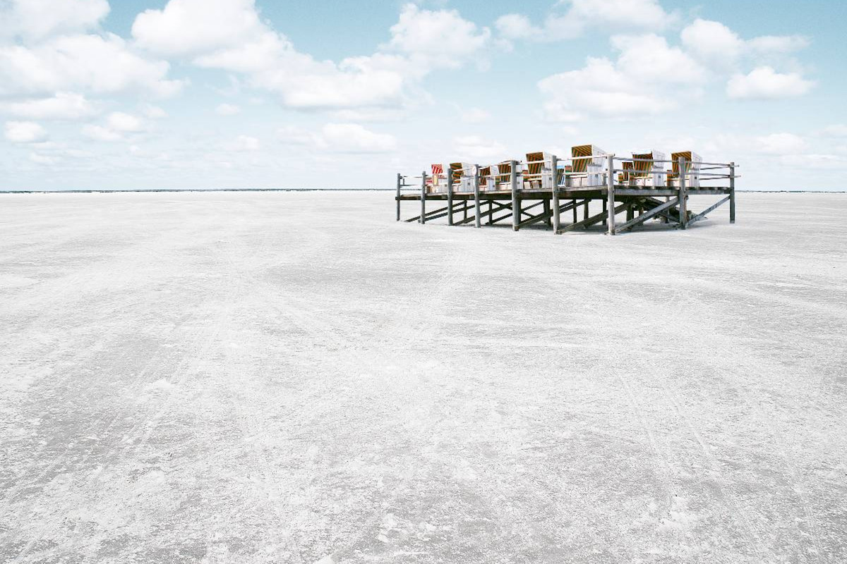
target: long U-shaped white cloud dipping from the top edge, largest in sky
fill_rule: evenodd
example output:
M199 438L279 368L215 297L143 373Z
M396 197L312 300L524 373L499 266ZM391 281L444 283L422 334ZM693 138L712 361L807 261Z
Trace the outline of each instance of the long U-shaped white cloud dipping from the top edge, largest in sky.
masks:
M170 0L139 14L132 33L150 52L243 74L248 85L276 93L287 107L324 110L400 107L410 85L434 68L473 59L490 37L455 10L407 4L378 52L318 61L263 22L253 0Z

